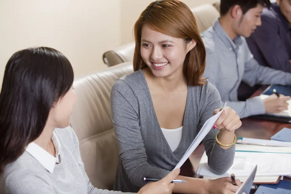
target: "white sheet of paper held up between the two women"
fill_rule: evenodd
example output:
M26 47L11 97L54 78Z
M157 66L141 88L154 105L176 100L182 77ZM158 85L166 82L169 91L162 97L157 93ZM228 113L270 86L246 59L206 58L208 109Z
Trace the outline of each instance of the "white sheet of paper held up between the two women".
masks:
M181 158L181 160L178 162L178 164L176 165L176 167L174 169L180 168L183 165L183 163L189 158L189 156L192 154L192 152L196 149L196 147L200 144L200 142L204 139L204 137L213 128L214 123L216 122L216 120L218 119L220 114L223 112L225 107L226 107L226 103L224 104L223 109L219 113L210 117L204 123L203 127L200 129L199 133L197 134L197 136L193 140L192 144L188 147L187 151L185 152L185 154L183 155L183 157Z

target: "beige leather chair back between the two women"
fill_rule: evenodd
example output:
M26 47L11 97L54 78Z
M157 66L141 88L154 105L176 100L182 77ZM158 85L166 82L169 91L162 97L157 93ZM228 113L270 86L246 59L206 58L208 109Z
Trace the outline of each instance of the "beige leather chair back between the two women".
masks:
M80 142L86 173L91 183L100 189L113 189L118 162L110 110L111 87L117 78L132 71L132 63L125 63L74 81L77 103L71 126Z

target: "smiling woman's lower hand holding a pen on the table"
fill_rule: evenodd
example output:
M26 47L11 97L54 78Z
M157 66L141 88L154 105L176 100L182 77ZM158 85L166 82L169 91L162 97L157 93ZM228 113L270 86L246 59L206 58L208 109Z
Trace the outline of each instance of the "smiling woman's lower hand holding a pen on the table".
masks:
M205 194L235 194L242 185L240 179L236 179L235 183L231 183L230 177L207 180L204 184Z

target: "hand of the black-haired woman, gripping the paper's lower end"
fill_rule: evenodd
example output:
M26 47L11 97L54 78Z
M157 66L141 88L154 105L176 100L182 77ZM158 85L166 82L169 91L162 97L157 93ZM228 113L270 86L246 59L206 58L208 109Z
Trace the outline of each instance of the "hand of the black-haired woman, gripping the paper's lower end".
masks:
M143 186L138 194L172 194L175 183L171 183L180 173L180 169L170 172L157 182L150 182Z

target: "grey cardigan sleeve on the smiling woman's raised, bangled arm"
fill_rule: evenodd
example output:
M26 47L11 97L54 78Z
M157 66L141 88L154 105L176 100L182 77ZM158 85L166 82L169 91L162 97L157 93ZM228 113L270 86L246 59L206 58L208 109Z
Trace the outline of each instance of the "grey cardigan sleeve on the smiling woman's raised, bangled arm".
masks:
M199 121L199 129L202 128L203 124L213 115L213 111L217 108L222 107L221 99L217 89L207 83L208 89L208 101L202 106L202 114ZM229 149L221 148L215 140L215 135L219 130L211 129L210 132L205 136L203 145L208 157L208 165L210 169L218 175L224 174L232 165L235 153L235 146Z

